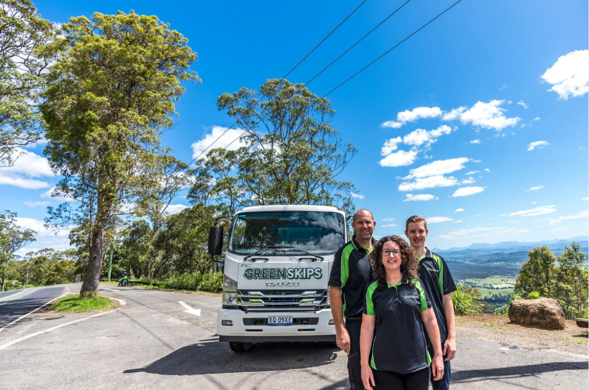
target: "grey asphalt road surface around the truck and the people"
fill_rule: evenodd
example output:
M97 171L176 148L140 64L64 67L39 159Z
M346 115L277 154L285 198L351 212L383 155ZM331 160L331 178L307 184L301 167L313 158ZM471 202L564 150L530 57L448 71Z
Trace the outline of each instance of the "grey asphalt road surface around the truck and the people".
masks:
M231 352L215 334L217 296L101 287L125 304L105 313L41 310L0 325L0 388L346 389L345 353L329 343L264 343ZM0 295L0 323L32 310L32 302L79 289ZM581 390L587 374L584 355L459 337L451 387Z

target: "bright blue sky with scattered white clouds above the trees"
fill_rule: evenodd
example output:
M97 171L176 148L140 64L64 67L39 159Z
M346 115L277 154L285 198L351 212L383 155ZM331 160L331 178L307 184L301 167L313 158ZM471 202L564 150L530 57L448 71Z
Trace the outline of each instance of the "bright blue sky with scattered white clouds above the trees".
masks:
M332 90L453 3L409 1L307 87L320 96ZM186 162L233 123L217 111L220 94L282 77L359 4L35 2L60 23L134 9L190 40L203 83L186 85L176 125L162 136ZM401 4L366 1L288 80L312 78ZM587 236L587 8L463 0L329 95L332 126L359 150L339 179L356 184L356 206L373 211L376 235L402 234L405 219L420 214L428 246L442 249ZM46 207L59 203L47 196L58 179L42 146L0 168L2 209L39 232L24 252L67 246L67 230L42 229Z

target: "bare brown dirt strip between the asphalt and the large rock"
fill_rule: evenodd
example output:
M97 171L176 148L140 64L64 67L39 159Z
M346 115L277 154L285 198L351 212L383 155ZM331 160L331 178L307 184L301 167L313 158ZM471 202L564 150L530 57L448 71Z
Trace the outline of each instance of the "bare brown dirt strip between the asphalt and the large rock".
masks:
M515 345L519 348L557 349L588 355L587 329L567 321L563 330L509 322L508 316L480 314L456 316L456 336Z

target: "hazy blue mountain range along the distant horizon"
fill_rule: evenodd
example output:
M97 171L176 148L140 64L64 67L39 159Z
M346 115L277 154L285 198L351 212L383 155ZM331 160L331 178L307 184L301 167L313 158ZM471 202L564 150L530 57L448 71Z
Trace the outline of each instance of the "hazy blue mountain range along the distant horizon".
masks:
M546 241L532 241L532 242L519 242L519 241L504 241L495 244L484 244L474 243L466 247L451 247L449 249L432 249L435 253L453 253L453 252L465 252L468 250L472 251L472 254L482 255L483 253L494 253L494 252L513 252L515 250L532 250L537 246L547 246L553 252L556 250L561 253L565 246L570 246L572 242L577 242L583 247L587 247L589 244L589 237L577 236L571 239L555 239ZM481 253L483 252L483 253ZM585 251L584 251L585 252ZM587 253L587 252L585 252ZM556 253L555 253L556 254Z

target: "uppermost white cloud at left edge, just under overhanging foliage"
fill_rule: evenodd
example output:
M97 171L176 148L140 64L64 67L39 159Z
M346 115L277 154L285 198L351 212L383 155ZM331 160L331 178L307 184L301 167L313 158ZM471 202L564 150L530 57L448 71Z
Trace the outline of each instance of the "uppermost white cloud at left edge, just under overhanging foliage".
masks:
M0 184L34 190L50 186L46 181L31 179L54 176L47 158L23 148L15 148L13 156L18 158L12 166L0 168Z

